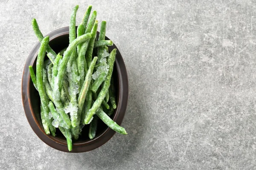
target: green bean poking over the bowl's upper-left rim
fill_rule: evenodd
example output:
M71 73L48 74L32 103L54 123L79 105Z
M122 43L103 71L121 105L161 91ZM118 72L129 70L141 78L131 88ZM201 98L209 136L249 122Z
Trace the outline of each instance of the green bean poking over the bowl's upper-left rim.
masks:
M32 19L32 27L35 32L36 37L38 37L38 40L41 42L44 39L44 35L39 29L38 23L36 22L35 18ZM49 46L49 44L46 47L47 51L47 57L51 60L51 62L54 64L54 59L56 57L56 53L52 50L52 48Z

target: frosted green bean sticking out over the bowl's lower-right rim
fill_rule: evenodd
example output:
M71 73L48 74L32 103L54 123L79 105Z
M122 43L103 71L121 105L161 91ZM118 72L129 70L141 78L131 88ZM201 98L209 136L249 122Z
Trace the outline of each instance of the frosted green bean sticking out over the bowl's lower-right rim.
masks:
M98 109L98 111L96 112L96 115L111 129L123 135L127 134L127 132L125 131L125 128L117 125L116 122L114 122L104 111L102 111L101 108Z

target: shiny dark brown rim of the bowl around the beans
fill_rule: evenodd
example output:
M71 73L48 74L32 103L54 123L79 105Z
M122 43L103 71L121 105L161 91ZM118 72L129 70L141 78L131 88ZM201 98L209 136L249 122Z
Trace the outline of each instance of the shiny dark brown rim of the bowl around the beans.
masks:
M47 34L47 36L49 36L51 41L64 34L69 34L69 27L56 29L55 31L52 31L49 34ZM108 37L106 37L106 39L108 39ZM40 47L40 42L37 42L34 48L32 48L32 51L30 52L29 57L26 60L26 64L23 70L21 92L22 92L22 103L23 103L24 112L26 114L26 118L29 122L29 125L32 127L32 130L44 143L46 143L50 147L53 147L57 150L69 152L67 149L67 142L60 141L56 139L54 136L47 135L44 132L43 128L41 128L41 125L36 119L35 113L32 109L31 99L29 94L29 88L30 88L29 82L31 81L31 79L30 79L28 66L33 65L33 63L35 62L39 47ZM122 119L124 118L125 111L127 108L127 103L128 103L128 75L127 75L125 62L122 58L122 55L120 54L115 44L113 44L112 47L117 49L116 56L119 56L119 57L116 57L116 67L117 67L117 74L119 77L119 87L120 87L119 99L118 99L119 104L117 105L116 112L115 112L116 114L114 115L113 120L118 125L121 125ZM90 140L88 142L83 142L83 143L74 143L73 150L71 151L71 153L87 152L87 151L96 149L102 146L103 144L105 144L106 142L108 142L115 133L116 132L114 130L108 127L100 136L96 137L93 140Z

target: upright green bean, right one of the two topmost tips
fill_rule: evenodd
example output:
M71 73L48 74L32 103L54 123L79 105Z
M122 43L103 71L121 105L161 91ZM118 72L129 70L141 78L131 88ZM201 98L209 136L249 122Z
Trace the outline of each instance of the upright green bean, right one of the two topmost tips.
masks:
M82 34L84 34L89 17L90 17L90 12L92 10L92 6L88 6L87 10L84 14L83 20L81 21L81 23L79 24L79 26L77 27L77 37L81 36ZM81 49L81 44L77 45L77 54L79 54Z

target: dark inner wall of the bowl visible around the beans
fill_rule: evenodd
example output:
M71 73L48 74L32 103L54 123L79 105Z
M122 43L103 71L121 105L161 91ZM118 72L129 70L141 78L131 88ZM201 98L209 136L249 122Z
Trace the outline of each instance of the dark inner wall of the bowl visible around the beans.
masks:
M97 33L97 37L99 36L99 32ZM109 40L107 37L105 38L106 40ZM54 39L49 41L49 45L51 48L58 54L59 51L61 51L63 48L66 48L69 45L69 34L62 34L61 36L55 37ZM109 47L109 52L111 52L113 47ZM35 71L36 68L36 59L33 62L33 69ZM45 56L45 59L48 59L47 56ZM119 98L120 98L120 78L118 74L118 69L117 65L115 63L114 68L113 68L113 79L114 79L114 85L116 89L116 105L118 107L119 105ZM43 129L43 126L41 124L41 117L40 117L40 97L38 94L38 91L34 88L34 85L32 83L32 80L30 79L29 81L29 98L31 99L31 105L32 105L32 110L35 114L36 121L38 122L39 125L41 125L41 129ZM116 111L115 109L113 115L111 116L111 119L113 119L116 116ZM98 119L98 127L97 127L97 132L96 132L96 137L97 139L99 136L101 136L106 130L108 129L108 126L105 125L102 120ZM73 142L73 144L84 144L87 142L92 141L88 137L88 132L89 132L89 125L85 125L82 129L81 136L79 136L79 139L76 142ZM52 136L53 137L53 136ZM56 136L53 137L55 138L58 142L60 143L66 143L65 137L62 135L60 130L56 129ZM93 139L94 140L94 139Z

